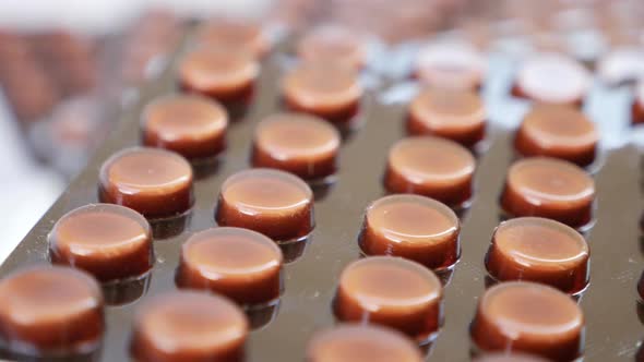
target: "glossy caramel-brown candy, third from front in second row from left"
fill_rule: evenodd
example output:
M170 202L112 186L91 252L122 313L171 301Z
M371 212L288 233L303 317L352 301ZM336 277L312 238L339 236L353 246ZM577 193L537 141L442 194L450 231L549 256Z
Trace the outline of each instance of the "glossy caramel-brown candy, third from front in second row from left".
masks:
M275 241L300 240L314 227L313 192L291 173L245 170L222 185L215 219L219 226L251 229Z

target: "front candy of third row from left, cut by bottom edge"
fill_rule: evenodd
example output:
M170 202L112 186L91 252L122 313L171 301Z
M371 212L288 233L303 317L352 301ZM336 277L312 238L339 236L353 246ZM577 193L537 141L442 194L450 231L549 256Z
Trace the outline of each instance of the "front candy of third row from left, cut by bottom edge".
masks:
M344 324L317 333L307 362L421 362L418 346L393 329Z

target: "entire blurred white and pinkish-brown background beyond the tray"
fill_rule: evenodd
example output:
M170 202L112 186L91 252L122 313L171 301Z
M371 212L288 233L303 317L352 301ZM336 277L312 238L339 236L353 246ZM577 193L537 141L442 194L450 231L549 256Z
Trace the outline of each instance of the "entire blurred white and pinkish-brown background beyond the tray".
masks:
M186 27L220 17L253 19L275 34L339 23L384 47L452 32L479 49L560 51L589 68L615 65L618 49L629 76L643 72L642 0L0 1L0 261L83 168L136 89L163 71ZM623 72L612 65L600 75L619 83Z

